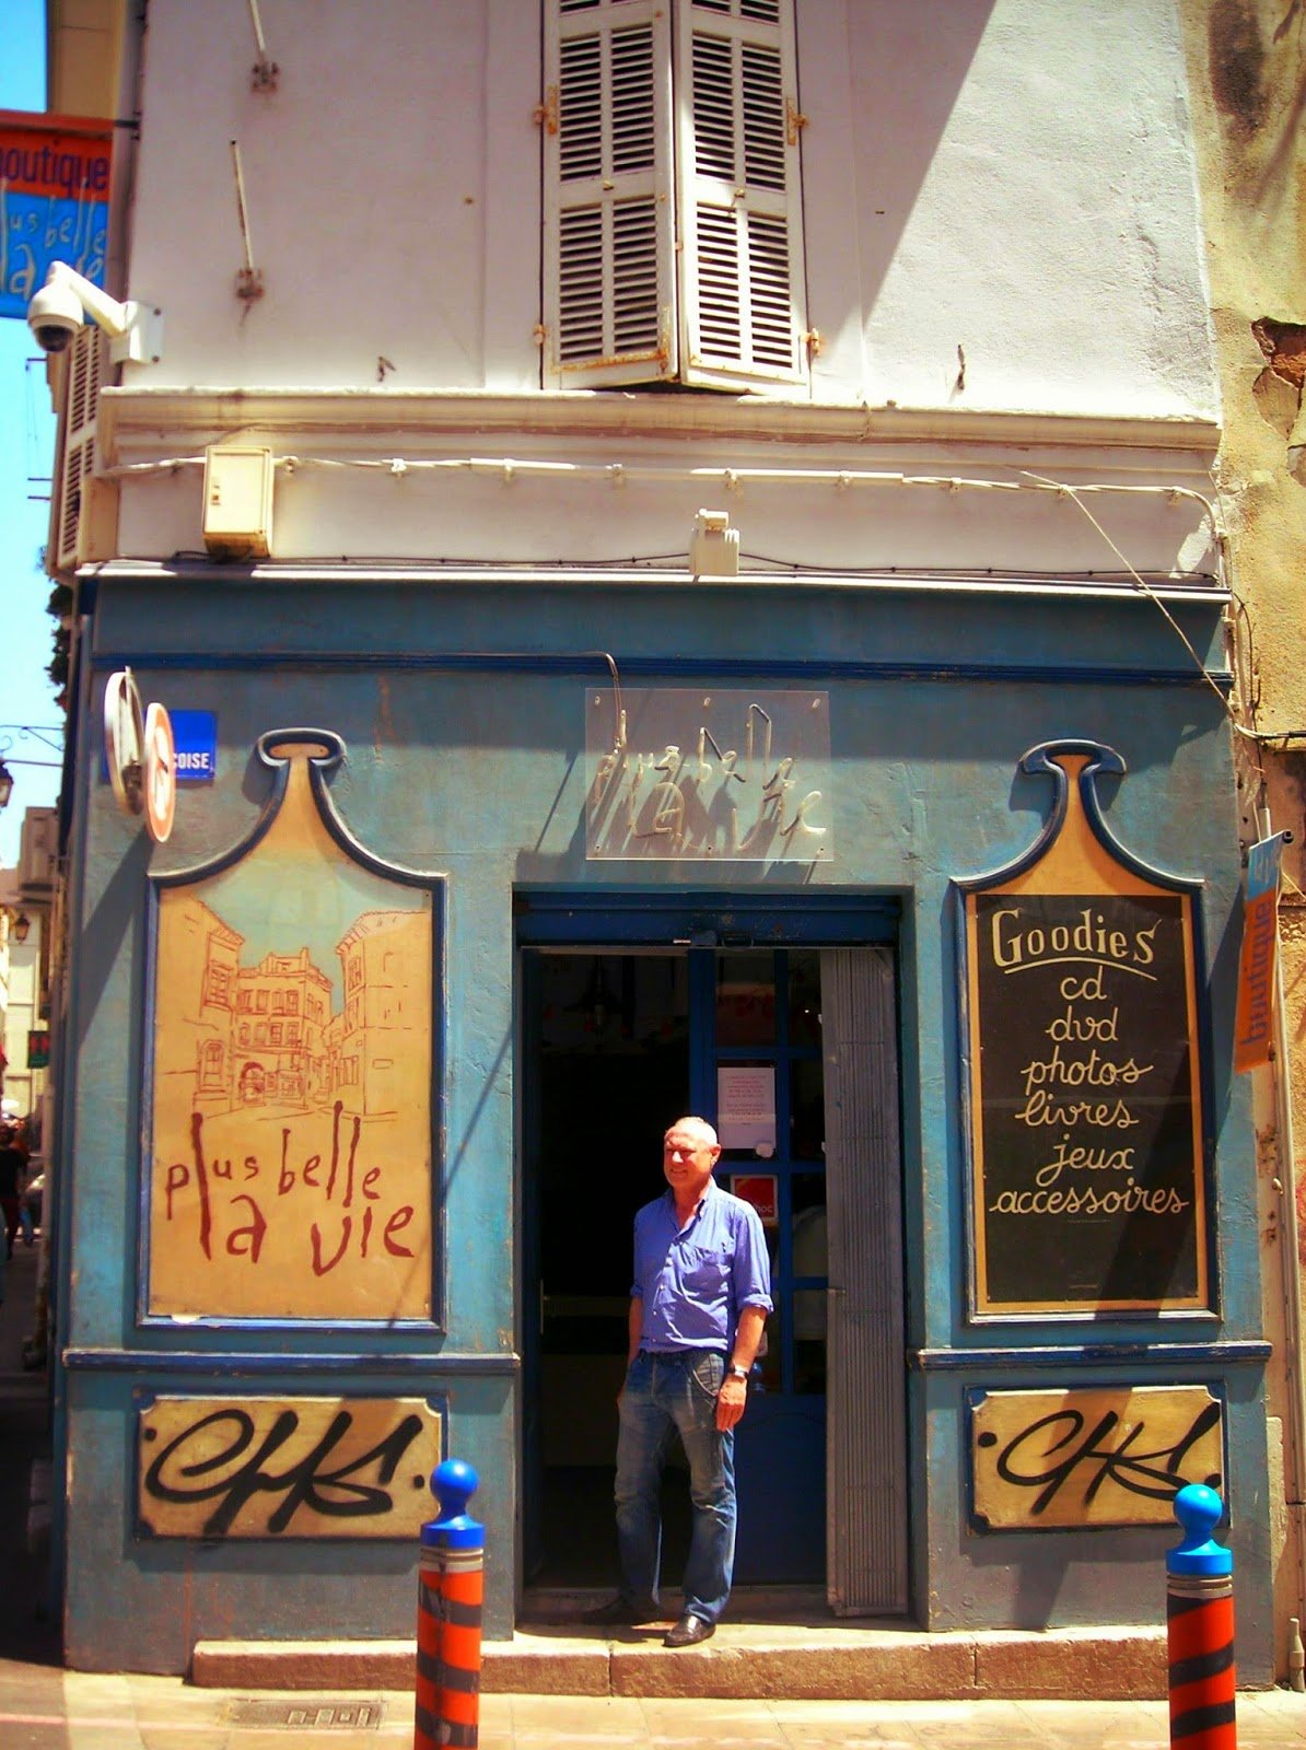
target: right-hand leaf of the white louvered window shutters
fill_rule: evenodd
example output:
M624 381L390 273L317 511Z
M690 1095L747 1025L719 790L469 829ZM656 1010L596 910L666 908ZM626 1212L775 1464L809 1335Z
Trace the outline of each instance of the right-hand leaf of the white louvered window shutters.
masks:
M679 10L681 380L805 385L791 0Z

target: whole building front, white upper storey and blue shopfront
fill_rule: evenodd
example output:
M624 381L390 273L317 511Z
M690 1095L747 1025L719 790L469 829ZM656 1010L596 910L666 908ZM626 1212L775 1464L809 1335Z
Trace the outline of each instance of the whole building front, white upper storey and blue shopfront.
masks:
M1269 1678L1178 21L1129 7L1124 89L1110 18L947 10L923 58L912 5L567 0L523 37L485 0L434 52L422 5L380 44L285 0L271 84L212 7L128 32L119 290L166 343L88 354L77 427L74 348L60 455L70 1662L410 1634L445 1454L492 1640L604 1587L628 1223L699 1111L777 1283L741 1587L1157 1626L1171 1496L1210 1480ZM231 77L198 96L201 61ZM749 93L760 156L721 208L704 147L674 238L657 177L567 131L618 63L707 91L681 170L713 80ZM282 217L235 292L196 222L233 163ZM732 331L702 289L735 206ZM635 233L693 271L623 278Z

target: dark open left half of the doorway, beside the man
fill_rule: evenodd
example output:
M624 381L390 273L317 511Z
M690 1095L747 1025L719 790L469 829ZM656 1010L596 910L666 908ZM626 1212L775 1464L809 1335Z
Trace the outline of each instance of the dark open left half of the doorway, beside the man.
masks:
M525 1580L606 1587L630 1232L662 1188L662 1136L688 1110L688 957L529 952L523 994ZM667 1514L665 1561L679 1572L683 1486L667 1489Z

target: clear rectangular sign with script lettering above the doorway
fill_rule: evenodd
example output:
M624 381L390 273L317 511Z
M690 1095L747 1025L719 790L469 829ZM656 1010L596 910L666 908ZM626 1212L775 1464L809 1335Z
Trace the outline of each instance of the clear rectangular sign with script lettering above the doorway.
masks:
M588 858L833 856L830 695L588 688Z

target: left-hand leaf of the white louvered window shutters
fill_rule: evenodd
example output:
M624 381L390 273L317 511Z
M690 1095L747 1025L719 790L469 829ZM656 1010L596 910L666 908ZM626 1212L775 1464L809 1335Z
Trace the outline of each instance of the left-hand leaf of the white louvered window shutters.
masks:
M544 383L676 374L665 0L550 0Z

